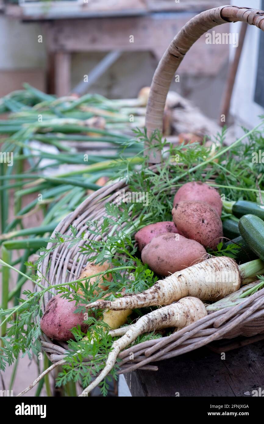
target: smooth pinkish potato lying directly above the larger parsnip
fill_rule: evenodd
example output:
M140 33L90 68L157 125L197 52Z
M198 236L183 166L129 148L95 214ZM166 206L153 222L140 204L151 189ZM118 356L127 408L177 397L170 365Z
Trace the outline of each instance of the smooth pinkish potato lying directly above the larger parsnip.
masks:
M154 237L141 253L142 262L156 274L166 277L206 259L206 250L195 240L180 234L165 233Z

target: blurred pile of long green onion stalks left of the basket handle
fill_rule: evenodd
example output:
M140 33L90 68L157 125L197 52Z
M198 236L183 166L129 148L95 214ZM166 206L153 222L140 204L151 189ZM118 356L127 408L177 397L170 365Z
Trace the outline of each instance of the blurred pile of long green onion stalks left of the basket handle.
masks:
M142 145L133 140L132 128L142 126L144 106L141 99L108 100L92 94L56 98L28 84L24 90L0 99L0 151L13 154L12 166L0 163L0 246L4 262L17 265L19 271L29 275L31 271L25 265L28 258L45 247L56 225L81 204L87 190L100 188L96 184L100 177L115 176L120 156L131 164L141 161L135 154L142 151ZM98 117L103 128L90 124ZM32 142L53 146L58 153L36 148ZM88 153L86 162L84 153ZM42 165L43 159L50 159L47 165ZM61 165L73 165L74 169L58 173ZM10 220L11 207L14 219ZM23 218L40 209L41 225L24 228ZM14 255L15 250L21 256ZM1 306L6 309L8 301L17 304L27 279L19 275L10 290L9 268L1 267L0 272Z

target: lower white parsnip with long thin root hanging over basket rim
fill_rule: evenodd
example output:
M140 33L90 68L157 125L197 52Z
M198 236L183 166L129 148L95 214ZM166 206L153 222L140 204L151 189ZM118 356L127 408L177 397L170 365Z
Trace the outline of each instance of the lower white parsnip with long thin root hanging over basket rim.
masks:
M206 315L203 302L194 297L185 297L177 303L143 315L135 324L125 327L127 329L125 335L114 341L105 368L80 396L87 396L107 376L114 367L119 352L136 340L139 335L161 328L184 327Z

